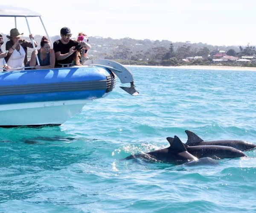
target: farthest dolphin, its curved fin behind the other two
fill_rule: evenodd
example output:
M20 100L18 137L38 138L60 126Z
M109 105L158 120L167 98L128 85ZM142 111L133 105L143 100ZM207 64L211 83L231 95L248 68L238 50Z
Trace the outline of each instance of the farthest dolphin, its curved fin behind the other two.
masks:
M194 132L191 132L189 130L185 130L185 132L188 135L188 140L186 142L186 145L188 146L216 145L233 147L241 151L251 150L256 147L256 144L240 140L204 141L203 139L199 138L198 135L196 135Z

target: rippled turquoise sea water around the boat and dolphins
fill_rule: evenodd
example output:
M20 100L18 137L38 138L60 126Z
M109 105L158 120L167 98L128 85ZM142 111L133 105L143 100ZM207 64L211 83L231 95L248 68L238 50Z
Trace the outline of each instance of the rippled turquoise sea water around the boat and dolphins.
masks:
M256 72L129 67L116 88L59 127L0 128L0 212L256 212L256 150L201 164L128 155L185 130L256 143ZM35 115L36 116L36 115Z

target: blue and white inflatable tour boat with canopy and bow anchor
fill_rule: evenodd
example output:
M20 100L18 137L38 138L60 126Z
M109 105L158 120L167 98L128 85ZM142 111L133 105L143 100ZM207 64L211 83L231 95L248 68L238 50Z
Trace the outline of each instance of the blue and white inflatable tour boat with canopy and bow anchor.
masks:
M29 9L0 6L0 17L28 17L41 14ZM52 42L50 41L51 45ZM82 66L0 72L0 127L61 125L81 112L85 104L106 97L116 85L138 95L132 73L111 60L90 59Z

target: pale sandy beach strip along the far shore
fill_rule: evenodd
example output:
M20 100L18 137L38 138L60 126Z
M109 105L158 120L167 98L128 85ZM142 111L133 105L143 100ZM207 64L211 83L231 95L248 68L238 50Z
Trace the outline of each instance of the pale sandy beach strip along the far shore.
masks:
M169 69L205 69L205 70L234 70L234 71L256 71L256 67L248 66L218 66L218 65L193 65L193 66L145 66L145 65L123 65L127 67L150 67L150 68L169 68Z

